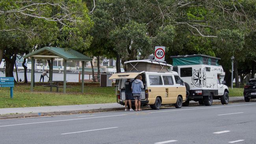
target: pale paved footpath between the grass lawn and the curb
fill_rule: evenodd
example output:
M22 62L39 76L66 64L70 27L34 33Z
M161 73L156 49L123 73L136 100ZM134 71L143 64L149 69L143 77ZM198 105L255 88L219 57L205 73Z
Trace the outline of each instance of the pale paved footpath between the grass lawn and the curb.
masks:
M243 101L243 96L230 97L230 102ZM213 102L220 102L220 100L213 100ZM190 101L190 103L198 103ZM86 105L60 105L60 106L45 106L45 107L17 107L0 109L0 119L18 118L27 116L43 116L54 114L74 114L74 113L88 113L100 111L115 111L124 109L123 105L119 103L99 103ZM4 115L8 115L7 117ZM14 116L16 115L16 116Z

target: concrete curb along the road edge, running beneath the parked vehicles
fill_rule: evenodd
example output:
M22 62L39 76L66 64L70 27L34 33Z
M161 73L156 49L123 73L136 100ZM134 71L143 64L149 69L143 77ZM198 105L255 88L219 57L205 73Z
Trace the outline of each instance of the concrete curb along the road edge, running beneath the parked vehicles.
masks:
M232 100L230 102L244 102L244 100ZM213 102L213 104L220 104L221 102ZM198 102L192 102L189 104L190 106L198 105ZM166 105L163 107L169 107L170 105ZM148 109L143 108L143 109ZM150 108L149 108L150 109ZM0 115L1 119L11 119L11 118L27 118L27 117L39 117L39 116L52 116L52 115L62 115L62 114L80 114L80 113L96 113L96 112L105 112L105 111L122 111L123 107L120 108L107 108L107 109L89 109L89 110L76 110L76 111L55 111L55 112L47 112L47 113L25 113L25 114L6 114Z

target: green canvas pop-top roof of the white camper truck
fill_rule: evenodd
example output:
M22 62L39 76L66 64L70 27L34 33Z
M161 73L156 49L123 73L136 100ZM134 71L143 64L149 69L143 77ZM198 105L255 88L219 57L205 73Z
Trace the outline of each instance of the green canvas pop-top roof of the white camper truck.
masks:
M215 65L219 66L220 58L208 55L181 55L171 56L173 58L173 66L180 65Z

